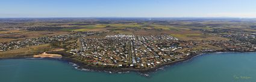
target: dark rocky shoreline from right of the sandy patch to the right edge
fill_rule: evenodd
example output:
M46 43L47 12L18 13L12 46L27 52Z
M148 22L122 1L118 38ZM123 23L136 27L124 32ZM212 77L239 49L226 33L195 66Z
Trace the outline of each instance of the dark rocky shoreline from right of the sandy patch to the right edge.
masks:
M161 65L157 65L154 68L146 68L146 69L135 69L135 68L98 68L98 67L93 67L93 66L87 66L84 65L83 63L80 63L79 61L72 60L70 58L63 57L63 60L66 60L67 62L74 63L77 65L77 69L86 69L89 71L99 71L99 72L110 72L110 73L120 73L120 72L139 72L140 74L149 74L151 72L156 72L158 69L166 67L166 66L172 66L177 63L182 63L182 62L187 62L193 57L201 56L203 54L209 54L209 53L250 53L250 52L255 52L255 51L211 51L211 52L204 52L204 53L195 53L190 55L189 57L186 57L185 59L181 60L176 60L174 62L169 62L169 63L163 63Z

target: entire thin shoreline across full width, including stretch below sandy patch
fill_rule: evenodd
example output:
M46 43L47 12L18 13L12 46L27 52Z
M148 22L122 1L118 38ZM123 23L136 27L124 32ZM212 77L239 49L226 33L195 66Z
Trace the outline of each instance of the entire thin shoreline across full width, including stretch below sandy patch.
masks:
M81 71L97 71L97 72L109 72L109 73L125 73L125 72L139 72L139 74L145 75L146 77L148 77L148 74L151 72L157 72L158 69L161 69L163 67L166 66L173 66L176 65L178 63L183 63L183 62L187 62L189 60L192 60L194 57L198 57L204 54L210 54L210 53L252 53L255 51L212 51L212 52L204 52L204 53L195 53L190 55L189 57L186 57L185 59L181 59L181 60L176 60L174 62L169 62L169 63L163 63L161 65L157 65L154 68L146 68L146 69L135 69L135 68L98 68L98 67L93 67L93 66L86 66L83 63L80 63L79 61L76 60L72 60L69 57L62 57L61 59L57 59L57 58L51 58L51 57L44 57L44 58L35 58L33 56L26 56L26 57L11 57L11 58L0 58L0 60L2 59L49 59L49 60L61 60L64 62L68 62L68 63L73 63L75 64L75 68L76 69L80 69ZM72 65L74 66L74 65Z

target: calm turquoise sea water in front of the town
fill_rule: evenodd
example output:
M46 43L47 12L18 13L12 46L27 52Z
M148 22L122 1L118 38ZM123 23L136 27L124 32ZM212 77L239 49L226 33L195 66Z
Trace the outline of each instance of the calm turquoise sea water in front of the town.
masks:
M255 82L256 53L204 54L149 75L80 71L61 60L0 60L0 82Z

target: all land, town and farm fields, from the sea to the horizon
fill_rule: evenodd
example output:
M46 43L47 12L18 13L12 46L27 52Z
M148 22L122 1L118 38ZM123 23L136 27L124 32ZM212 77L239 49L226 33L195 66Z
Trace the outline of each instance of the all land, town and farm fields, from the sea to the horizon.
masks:
M173 27L175 24L168 26L161 20L139 19L39 21L42 21L40 24L58 23L19 28L11 24L12 20L8 25L3 22L0 58L50 57L68 60L80 68L122 72L152 71L204 53L256 51L253 25L252 28L237 28L243 32L214 27L234 26L237 22L228 21L223 25L210 22L207 28L194 28L205 24L191 22L190 25L182 25L184 22L181 20L166 21L180 26Z

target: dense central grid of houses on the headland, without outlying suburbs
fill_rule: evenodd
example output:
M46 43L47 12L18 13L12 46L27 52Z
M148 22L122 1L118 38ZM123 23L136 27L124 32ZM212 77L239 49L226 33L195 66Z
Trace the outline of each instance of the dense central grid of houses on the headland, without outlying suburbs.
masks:
M93 65L152 68L185 56L175 53L178 39L170 35L107 35L105 38L83 38L78 57Z

